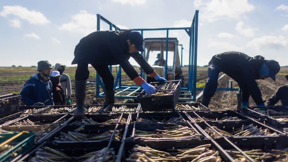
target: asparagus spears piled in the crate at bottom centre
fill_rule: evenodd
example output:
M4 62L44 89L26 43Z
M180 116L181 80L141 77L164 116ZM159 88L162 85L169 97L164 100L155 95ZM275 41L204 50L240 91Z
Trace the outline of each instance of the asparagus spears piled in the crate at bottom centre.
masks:
M211 144L197 146L193 149L167 149L167 152L152 149L148 146L135 145L129 150L128 162L142 161L191 161L191 162L221 162L218 151L210 150Z

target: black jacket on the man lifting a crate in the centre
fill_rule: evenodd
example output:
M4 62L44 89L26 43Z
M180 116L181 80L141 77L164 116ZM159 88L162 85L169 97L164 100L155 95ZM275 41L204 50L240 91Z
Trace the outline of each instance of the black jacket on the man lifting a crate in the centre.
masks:
M97 31L87 35L75 47L75 58L72 64L85 63L103 66L120 64L133 80L139 74L128 61L132 57L146 74L153 73L153 68L145 61L143 55L139 52L129 53L127 36L130 31Z

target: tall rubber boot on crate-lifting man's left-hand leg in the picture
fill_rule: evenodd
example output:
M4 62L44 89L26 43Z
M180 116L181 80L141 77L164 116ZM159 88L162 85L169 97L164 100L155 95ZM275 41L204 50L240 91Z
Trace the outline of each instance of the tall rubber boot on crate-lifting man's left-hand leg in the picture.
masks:
M75 80L75 98L77 107L74 113L75 120L84 119L85 96L86 96L86 80Z

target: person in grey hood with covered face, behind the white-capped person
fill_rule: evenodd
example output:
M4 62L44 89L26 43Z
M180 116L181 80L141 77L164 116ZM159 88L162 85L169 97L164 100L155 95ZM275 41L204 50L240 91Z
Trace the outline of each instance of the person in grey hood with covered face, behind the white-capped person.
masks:
M67 105L71 105L71 81L69 75L65 74L65 66L59 63L55 64L55 70L59 71L61 78L60 84L61 87L64 89L65 96L67 98Z

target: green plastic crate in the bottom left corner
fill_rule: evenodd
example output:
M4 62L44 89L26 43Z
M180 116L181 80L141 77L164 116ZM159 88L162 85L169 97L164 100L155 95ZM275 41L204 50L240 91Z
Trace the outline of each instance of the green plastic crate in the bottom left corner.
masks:
M18 133L2 133L0 134L0 143L4 142L5 140L8 140L9 138L15 136ZM0 155L0 162L2 161L10 161L11 155L18 151L19 149L22 149L19 154L23 154L26 152L30 147L34 145L34 139L35 139L35 134L32 132L29 133L24 133L21 136L17 137L15 140L12 142L18 143L8 151L4 152L2 155Z

